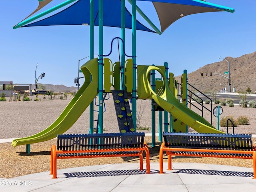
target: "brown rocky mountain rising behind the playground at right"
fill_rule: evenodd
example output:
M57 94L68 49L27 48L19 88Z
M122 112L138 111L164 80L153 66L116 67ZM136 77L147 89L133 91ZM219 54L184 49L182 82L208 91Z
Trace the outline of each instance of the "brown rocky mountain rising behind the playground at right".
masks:
M225 59L222 59L220 62L207 64L189 73L188 83L201 92L220 91L228 86L228 79L223 76L228 77L228 74L224 74L224 72L228 71L229 62L231 92L233 88L235 92L245 92L250 87L250 90L254 93L256 91L256 52L245 54L238 58L226 57ZM210 76L210 72L212 72L212 76ZM201 73L203 73L203 76L201 76ZM175 78L180 82L181 76Z

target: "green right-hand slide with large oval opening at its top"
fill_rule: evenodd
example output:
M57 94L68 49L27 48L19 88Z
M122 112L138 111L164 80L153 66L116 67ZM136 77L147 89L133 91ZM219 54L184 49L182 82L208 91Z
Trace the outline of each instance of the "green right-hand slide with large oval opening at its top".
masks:
M150 86L148 77L150 76L150 71L152 70L158 71L163 77L165 89L162 96L158 96ZM159 106L161 106L167 112L173 114L176 118L193 128L195 131L199 133L224 133L214 128L207 120L184 106L175 98L168 88L165 73L160 68L156 66L144 66L144 68L141 68L140 74L138 74L138 81L138 85L140 84L140 86L144 86L142 91L142 95L144 97L150 95Z

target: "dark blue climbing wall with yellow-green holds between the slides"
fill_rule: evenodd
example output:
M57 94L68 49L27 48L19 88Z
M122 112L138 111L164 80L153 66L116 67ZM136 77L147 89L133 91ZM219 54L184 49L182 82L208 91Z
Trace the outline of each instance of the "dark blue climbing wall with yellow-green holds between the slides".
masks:
M134 132L132 113L125 90L112 90L114 105L116 109L117 122L120 132Z

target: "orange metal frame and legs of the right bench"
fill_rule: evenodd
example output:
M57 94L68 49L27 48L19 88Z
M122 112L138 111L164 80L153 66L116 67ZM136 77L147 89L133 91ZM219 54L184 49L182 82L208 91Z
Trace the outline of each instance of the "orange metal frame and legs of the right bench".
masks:
M238 158L238 159L252 159L253 160L253 179L256 179L256 146L254 146L252 151L238 151L238 150L215 150L215 149L190 149L190 148L169 148L165 146L163 142L160 147L159 152L159 164L160 164L160 174L164 173L163 168L163 155L164 151L168 156L168 170L172 170L172 156L194 156L194 157L218 157L218 158ZM202 152L202 154L178 154L176 152ZM228 155L220 154L204 154L204 152L213 153L225 153ZM234 156L232 154L253 154L253 156Z

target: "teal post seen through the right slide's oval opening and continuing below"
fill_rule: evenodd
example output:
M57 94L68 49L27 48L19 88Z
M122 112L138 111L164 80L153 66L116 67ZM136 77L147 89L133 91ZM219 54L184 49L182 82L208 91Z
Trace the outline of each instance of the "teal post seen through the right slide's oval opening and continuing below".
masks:
M154 66L154 65L153 65ZM152 90L156 92L156 72L151 71L151 86ZM154 107L154 100L151 100L151 135L152 135L152 147L156 146L156 111Z

